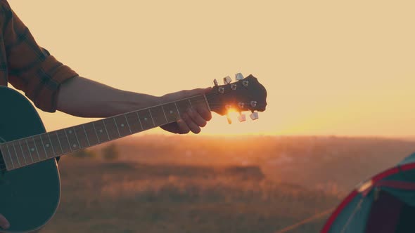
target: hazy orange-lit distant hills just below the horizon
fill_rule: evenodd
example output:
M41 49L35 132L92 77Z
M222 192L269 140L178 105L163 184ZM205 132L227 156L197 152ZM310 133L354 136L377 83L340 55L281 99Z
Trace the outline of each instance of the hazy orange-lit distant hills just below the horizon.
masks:
M335 193L347 192L415 152L412 140L334 136L146 135L115 143L122 161L253 165L259 166L267 179Z

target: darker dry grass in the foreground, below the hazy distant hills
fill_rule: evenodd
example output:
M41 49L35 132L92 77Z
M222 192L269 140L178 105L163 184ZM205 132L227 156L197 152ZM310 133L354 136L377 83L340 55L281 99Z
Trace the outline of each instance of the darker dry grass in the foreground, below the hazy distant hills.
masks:
M165 168L64 158L62 201L43 232L274 232L338 201L246 179L243 167Z

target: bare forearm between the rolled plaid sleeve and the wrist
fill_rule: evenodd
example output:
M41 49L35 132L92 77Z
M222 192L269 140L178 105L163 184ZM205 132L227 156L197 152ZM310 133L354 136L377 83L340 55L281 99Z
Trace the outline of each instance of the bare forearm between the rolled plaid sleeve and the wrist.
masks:
M57 109L81 117L108 117L160 104L153 95L122 91L76 77L60 86Z

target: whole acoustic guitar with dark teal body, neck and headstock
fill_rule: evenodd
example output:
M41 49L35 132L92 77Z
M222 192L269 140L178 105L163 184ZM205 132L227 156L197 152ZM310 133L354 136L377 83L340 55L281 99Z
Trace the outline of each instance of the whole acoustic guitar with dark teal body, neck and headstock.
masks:
M251 111L251 119L265 110L267 91L250 75L229 76L210 93L111 116L58 131L47 132L33 105L17 91L0 87L0 213L11 223L0 232L32 232L56 212L60 178L56 157L110 140L146 131L179 119L193 105L207 105L225 115L229 109Z

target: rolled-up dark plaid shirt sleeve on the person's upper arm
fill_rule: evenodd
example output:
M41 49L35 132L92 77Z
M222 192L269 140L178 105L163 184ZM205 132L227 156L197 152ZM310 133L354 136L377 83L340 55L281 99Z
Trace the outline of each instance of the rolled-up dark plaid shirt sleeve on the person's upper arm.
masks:
M60 84L78 74L37 45L6 0L0 0L0 28L0 86L10 82L39 109L56 112Z

